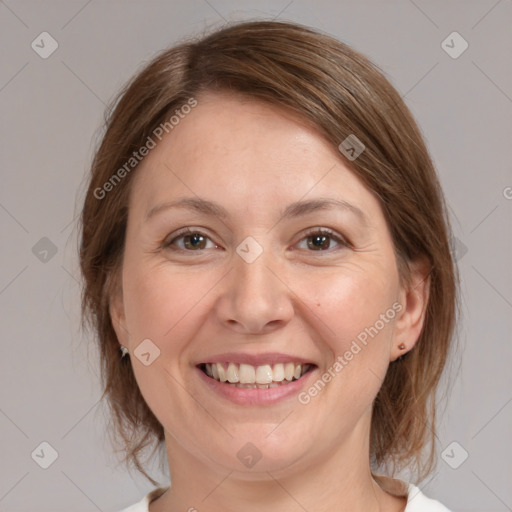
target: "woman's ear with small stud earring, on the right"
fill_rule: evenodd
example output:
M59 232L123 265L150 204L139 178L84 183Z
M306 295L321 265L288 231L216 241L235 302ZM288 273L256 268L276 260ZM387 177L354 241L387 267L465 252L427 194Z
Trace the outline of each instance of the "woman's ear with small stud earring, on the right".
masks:
M409 268L411 272L409 283L401 288L398 299L402 309L396 316L390 361L403 356L414 347L425 322L432 270L428 262L423 259L409 263ZM405 348L400 349L400 346Z

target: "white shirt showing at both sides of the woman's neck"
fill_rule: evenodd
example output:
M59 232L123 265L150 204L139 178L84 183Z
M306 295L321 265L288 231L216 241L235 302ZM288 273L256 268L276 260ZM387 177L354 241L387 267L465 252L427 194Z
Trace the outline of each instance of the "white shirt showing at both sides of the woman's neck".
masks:
M379 477L379 480L386 480L388 482L391 481L391 479L386 479L385 477ZM388 486L389 483L382 487L395 496L407 496L407 506L405 507L404 512L450 512L450 510L439 503L439 501L427 498L418 489L418 487L413 484L408 484L402 480L394 479L392 480L392 485L389 487L389 490L386 488ZM156 500L158 497L160 497L165 491L167 491L167 489L168 487L159 487L158 489L155 489L144 496L144 498L142 498L139 503L125 508L120 512L149 512L149 504L153 500ZM404 489L406 489L405 495L403 494Z

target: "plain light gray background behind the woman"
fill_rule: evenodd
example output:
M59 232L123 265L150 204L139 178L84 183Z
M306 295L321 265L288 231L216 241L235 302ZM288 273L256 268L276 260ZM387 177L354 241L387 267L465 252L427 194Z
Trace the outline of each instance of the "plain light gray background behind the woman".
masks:
M460 369L438 448L458 443L445 452L452 465L469 454L457 469L440 455L420 487L455 511L512 510L510 0L5 0L0 16L1 511L115 511L151 489L111 454L96 350L79 328L84 176L105 103L145 60L205 27L249 18L297 21L353 45L417 118L462 277ZM44 31L59 45L46 59L31 48ZM458 58L441 46L453 31L469 44ZM48 469L36 463L49 456L43 441L58 452Z

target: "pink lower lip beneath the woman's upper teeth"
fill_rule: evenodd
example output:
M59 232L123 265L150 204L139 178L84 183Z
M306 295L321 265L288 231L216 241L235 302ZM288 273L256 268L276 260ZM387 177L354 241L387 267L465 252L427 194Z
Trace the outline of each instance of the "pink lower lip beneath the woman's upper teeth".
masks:
M233 384L225 384L208 377L201 369L196 368L199 377L215 393L238 405L268 405L290 397L296 397L306 387L306 383L316 368L305 373L300 379L281 384L275 388L238 388Z

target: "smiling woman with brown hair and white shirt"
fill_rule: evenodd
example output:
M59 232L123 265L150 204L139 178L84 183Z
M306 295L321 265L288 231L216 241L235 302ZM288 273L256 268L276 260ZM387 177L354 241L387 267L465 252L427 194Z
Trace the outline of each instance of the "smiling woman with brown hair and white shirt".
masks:
M434 466L450 226L367 58L278 22L161 53L112 108L81 220L113 437L154 485L141 453L165 447L172 481L127 511L447 510L391 477Z

